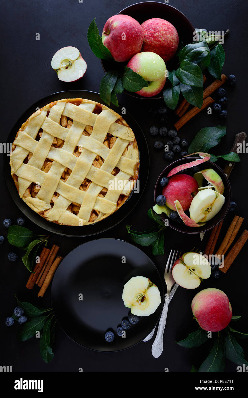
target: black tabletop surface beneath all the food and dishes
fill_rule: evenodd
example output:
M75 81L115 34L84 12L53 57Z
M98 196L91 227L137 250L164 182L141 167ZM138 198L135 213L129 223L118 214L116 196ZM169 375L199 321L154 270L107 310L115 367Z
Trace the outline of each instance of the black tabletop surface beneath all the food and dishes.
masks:
M99 92L100 80L103 76L101 62L97 59L87 42L87 30L90 22L96 17L96 23L101 31L105 21L117 14L126 6L134 3L133 0L109 2L107 0L91 0L78 2L77 0L52 1L27 1L16 2L9 0L2 3L2 92L1 92L1 141L5 142L8 133L20 117L20 115L35 101L53 92L61 90L91 90ZM236 86L227 88L228 117L226 121L227 135L221 140L221 144L213 151L215 154L225 154L230 151L236 133L245 131L247 127L247 101L246 73L246 35L245 24L247 7L244 1L209 0L184 1L172 0L170 5L178 8L191 20L193 26L205 28L208 31L226 31L230 29L230 35L225 40L224 48L226 61L223 73L235 74ZM4 16L4 18L3 18ZM40 34L40 40L36 40L36 33ZM59 81L55 71L51 68L51 58L55 52L65 46L77 47L82 57L88 64L85 76L74 83ZM154 184L160 172L167 166L162 152L155 152L153 148L154 138L149 135L152 125L162 127L160 122L154 122L148 116L151 106L159 107L162 100L147 101L137 100L125 94L119 96L119 102L136 118L141 125L150 150L150 173L145 192L139 201L139 205L125 220L111 230L94 238L120 238L129 240L126 224L132 224L133 229L145 230L150 224L146 216L147 210L153 204ZM225 122L224 122L225 123ZM221 125L214 115L207 115L204 110L187 123L179 132L181 138L189 141L195 133L206 126ZM6 156L1 154L1 157ZM232 187L232 200L237 203L236 210L229 212L222 228L220 239L234 215L244 217L241 230L247 229L247 184L246 167L247 155L241 154L241 162L236 164L230 176ZM225 162L218 161L220 166ZM1 162L2 167L2 162ZM10 218L15 220L22 214L12 201L1 172L1 219L0 234L6 237L7 230L2 226L2 221ZM38 233L44 230L38 228L27 220L26 226ZM152 256L151 248L141 248L163 274L166 259L172 248L186 252L192 246L205 247L209 233L206 233L201 242L199 235L190 236L180 234L170 228L165 231L164 256ZM61 246L60 255L66 254L87 238L65 238L51 235L49 245L56 243ZM8 261L8 252L14 251L19 255L18 261ZM39 354L39 342L36 338L25 342L18 342L16 335L18 324L7 328L5 318L10 316L16 306L16 293L22 301L32 302L42 307L50 306L49 291L44 298L37 297L37 289L29 291L25 288L29 272L21 261L22 252L10 246L7 240L1 245L0 259L0 334L1 334L1 364L12 365L14 372L78 372L82 368L84 372L164 372L168 368L170 372L190 372L192 364L196 368L207 357L208 345L200 349L186 349L176 344L188 333L197 329L197 323L193 320L191 312L191 300L201 289L207 287L219 288L228 295L232 304L233 314L242 318L233 324L235 329L248 332L248 290L247 290L247 246L236 258L227 274L221 275L221 279L213 278L204 281L198 289L186 290L178 288L168 312L166 329L164 333L164 351L158 359L151 354L152 340L139 343L131 349L117 353L99 353L90 351L77 345L57 326L53 351L54 359L46 364ZM49 287L50 289L50 287ZM248 343L242 340L244 352L248 357ZM236 366L230 361L226 363L226 372L236 372Z

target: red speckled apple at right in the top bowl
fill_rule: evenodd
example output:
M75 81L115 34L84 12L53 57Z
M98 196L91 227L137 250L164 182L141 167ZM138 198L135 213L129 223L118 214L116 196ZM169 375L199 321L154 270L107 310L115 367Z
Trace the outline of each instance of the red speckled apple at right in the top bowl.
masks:
M141 25L144 42L141 51L152 51L160 55L164 62L174 57L178 49L178 32L172 23L161 18L152 18Z

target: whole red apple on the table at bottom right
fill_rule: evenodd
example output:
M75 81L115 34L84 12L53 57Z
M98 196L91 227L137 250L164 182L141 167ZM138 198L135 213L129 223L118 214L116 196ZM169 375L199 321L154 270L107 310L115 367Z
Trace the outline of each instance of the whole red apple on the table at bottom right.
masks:
M209 288L197 293L192 300L191 309L199 326L211 332L225 329L232 319L229 299L219 289Z

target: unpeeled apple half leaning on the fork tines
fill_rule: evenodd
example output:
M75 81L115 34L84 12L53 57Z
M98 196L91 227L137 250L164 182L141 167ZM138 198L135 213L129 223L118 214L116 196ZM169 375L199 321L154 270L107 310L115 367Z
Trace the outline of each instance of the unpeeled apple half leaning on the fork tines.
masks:
M211 275L211 266L199 253L183 254L172 266L172 276L178 285L186 289L196 289L203 279Z

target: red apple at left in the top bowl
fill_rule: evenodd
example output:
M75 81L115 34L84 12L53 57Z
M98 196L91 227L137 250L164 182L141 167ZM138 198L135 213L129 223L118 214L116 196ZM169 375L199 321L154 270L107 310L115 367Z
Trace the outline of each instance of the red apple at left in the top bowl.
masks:
M102 42L117 62L128 61L141 51L144 33L129 15L114 15L103 27Z

